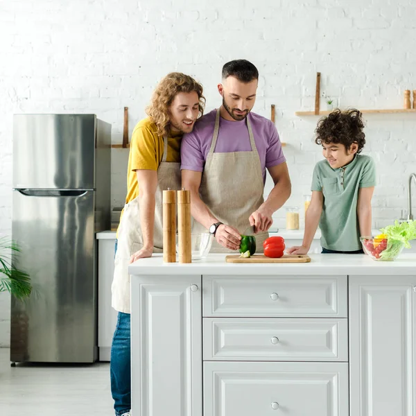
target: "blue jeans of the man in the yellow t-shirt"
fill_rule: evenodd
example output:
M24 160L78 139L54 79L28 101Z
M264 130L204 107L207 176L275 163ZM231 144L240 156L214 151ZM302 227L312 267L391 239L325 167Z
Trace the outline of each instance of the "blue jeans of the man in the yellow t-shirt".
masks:
M130 379L130 313L119 312L110 358L111 394L117 416L131 409Z

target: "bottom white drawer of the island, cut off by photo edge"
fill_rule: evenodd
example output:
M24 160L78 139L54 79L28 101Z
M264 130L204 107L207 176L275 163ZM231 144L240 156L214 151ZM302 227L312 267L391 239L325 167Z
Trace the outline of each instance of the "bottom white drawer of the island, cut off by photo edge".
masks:
M348 416L347 363L204 363L204 416Z

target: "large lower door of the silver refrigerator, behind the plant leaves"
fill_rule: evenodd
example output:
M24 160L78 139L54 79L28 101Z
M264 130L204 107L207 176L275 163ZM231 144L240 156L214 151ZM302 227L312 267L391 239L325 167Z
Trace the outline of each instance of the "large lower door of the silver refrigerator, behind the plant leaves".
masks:
M12 297L10 361L91 363L97 358L94 191L13 191L12 264L33 293Z

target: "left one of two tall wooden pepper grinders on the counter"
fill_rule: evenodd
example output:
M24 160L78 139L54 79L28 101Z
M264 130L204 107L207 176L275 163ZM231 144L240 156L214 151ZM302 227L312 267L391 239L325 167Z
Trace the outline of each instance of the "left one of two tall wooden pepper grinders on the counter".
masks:
M163 191L163 261L176 262L176 191Z

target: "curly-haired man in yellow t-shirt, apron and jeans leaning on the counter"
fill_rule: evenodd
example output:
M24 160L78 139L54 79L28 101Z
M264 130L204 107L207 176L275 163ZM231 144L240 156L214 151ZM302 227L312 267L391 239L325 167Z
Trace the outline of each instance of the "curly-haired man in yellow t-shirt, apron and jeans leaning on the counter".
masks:
M112 306L119 312L110 376L116 416L130 416L130 279L128 265L162 251L162 191L180 189L180 144L202 115L202 85L169 73L157 85L130 143L125 207L117 230Z

